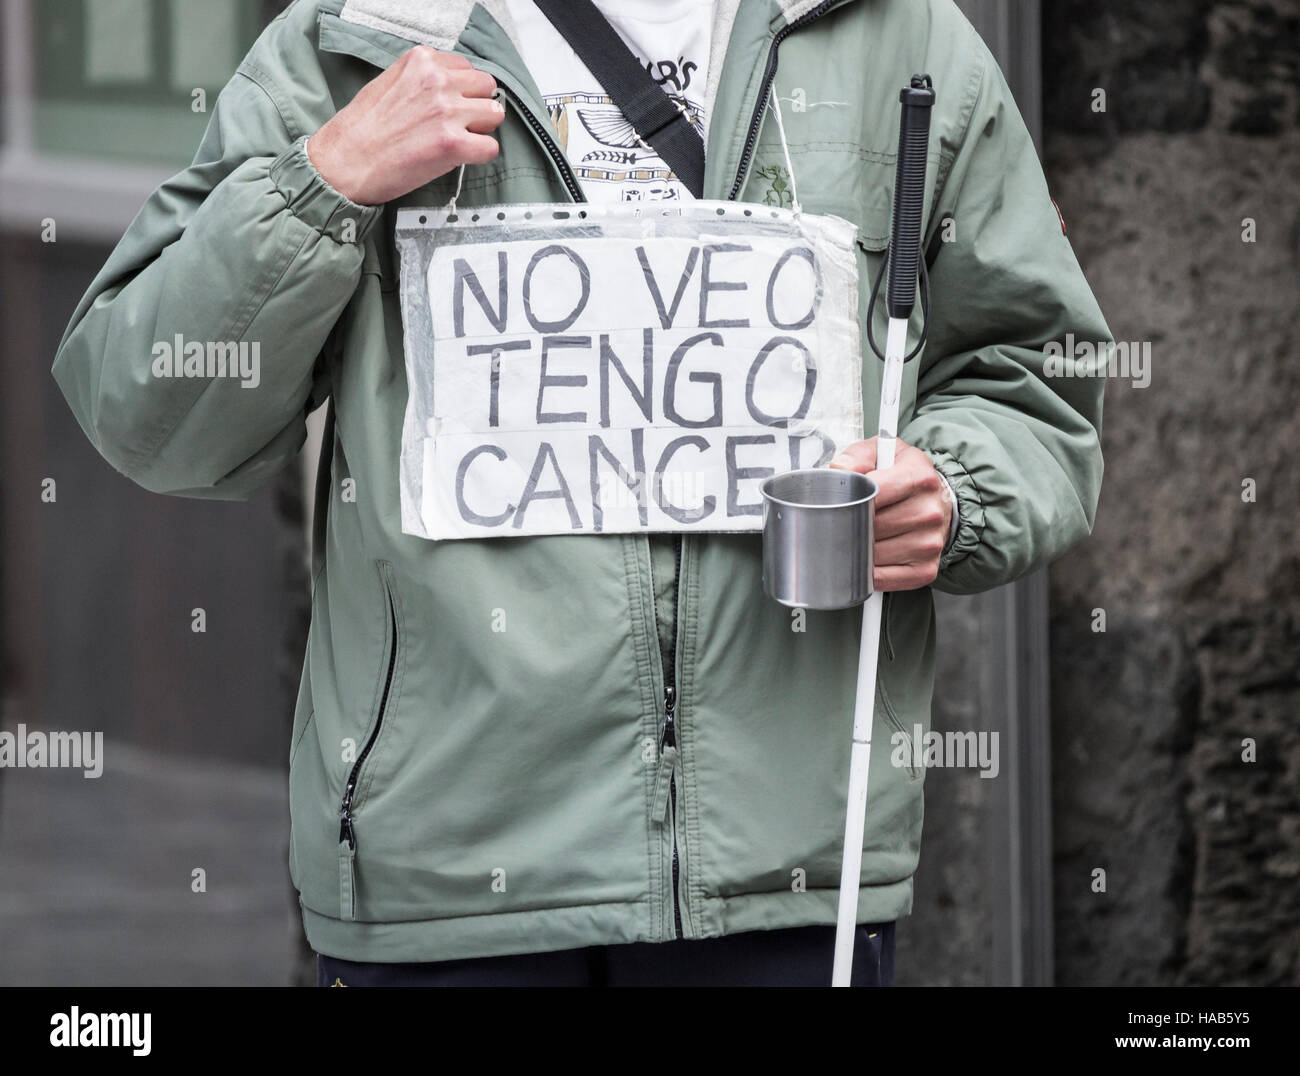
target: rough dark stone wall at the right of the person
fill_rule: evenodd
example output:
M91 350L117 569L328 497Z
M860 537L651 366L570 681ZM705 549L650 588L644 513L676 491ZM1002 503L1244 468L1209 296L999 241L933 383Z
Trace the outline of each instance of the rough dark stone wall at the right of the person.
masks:
M1152 368L1052 570L1057 979L1296 985L1300 3L1046 0L1043 48L1053 194Z

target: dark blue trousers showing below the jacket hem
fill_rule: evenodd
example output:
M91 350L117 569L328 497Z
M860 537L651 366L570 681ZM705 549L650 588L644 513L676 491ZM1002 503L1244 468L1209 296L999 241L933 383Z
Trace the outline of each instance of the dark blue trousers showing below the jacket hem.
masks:
M317 986L829 986L833 927L377 964L316 955ZM854 986L892 986L894 924L858 927Z

